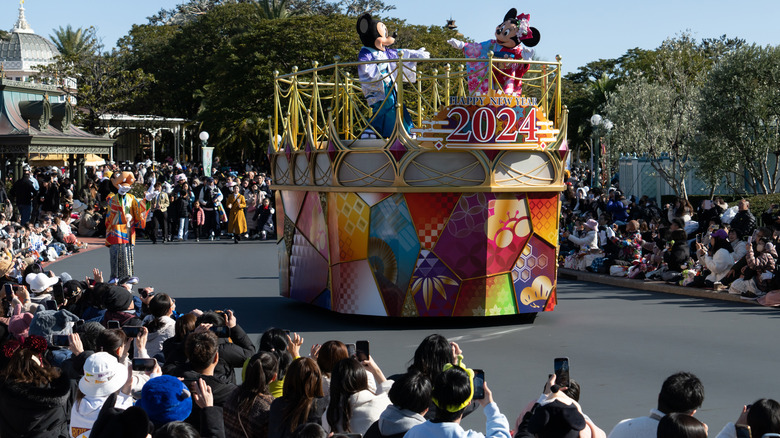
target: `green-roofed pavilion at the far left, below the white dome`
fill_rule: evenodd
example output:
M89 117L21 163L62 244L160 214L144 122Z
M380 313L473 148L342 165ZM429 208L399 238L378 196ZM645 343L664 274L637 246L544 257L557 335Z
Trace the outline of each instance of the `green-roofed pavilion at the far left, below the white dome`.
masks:
M73 106L54 85L0 78L0 161L3 176L11 162L14 176L34 154L63 154L74 184L84 184L87 154L109 156L114 141L73 123ZM75 171L74 171L75 170Z

